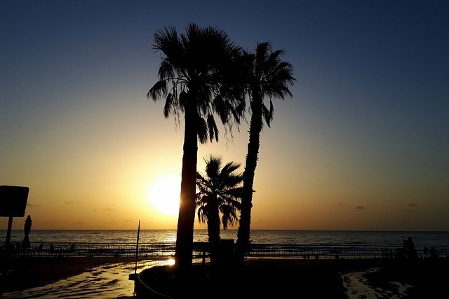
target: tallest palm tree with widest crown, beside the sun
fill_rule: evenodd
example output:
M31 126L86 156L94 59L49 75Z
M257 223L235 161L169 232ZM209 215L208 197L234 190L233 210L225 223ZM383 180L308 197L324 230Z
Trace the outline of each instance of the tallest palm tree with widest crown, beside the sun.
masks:
M179 121L180 113L184 113L185 120L175 247L175 266L182 275L192 265L198 140L201 144L208 138L218 141L214 113L229 127L238 121L239 109L234 109L234 104L241 96L232 88L238 85L231 75L240 48L221 29L192 23L179 36L173 27L160 29L154 34L153 48L161 53L162 61L159 81L147 97L165 100L166 118L173 115Z

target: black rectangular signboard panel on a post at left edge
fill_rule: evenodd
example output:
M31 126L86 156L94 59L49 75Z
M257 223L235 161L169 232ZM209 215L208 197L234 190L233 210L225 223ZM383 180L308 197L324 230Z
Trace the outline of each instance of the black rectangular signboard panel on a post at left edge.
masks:
M25 216L28 192L28 187L0 186L0 217Z

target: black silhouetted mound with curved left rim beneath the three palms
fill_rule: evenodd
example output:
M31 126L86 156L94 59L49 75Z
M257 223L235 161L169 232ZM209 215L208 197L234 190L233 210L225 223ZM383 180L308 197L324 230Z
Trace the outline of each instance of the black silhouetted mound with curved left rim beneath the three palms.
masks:
M208 266L196 265L185 284L173 278L170 266L144 270L140 279L173 298L344 298L340 267L364 266L349 260L337 265L333 260L257 259L247 260L238 270L211 272ZM149 298L145 293L140 297Z

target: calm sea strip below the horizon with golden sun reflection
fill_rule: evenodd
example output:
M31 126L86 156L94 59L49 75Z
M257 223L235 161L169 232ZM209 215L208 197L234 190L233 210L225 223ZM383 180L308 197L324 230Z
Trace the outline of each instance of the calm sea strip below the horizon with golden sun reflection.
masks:
M403 239L413 237L415 248L424 246L449 247L449 232L391 232L391 231L305 231L252 230L255 244L301 244L314 246L402 246ZM11 232L11 242L22 242L23 230ZM224 230L222 239L237 239L237 230ZM0 242L6 242L6 230L0 230ZM137 230L31 230L32 243L135 243ZM140 243L175 242L176 230L140 230ZM207 230L195 230L194 242L206 242Z

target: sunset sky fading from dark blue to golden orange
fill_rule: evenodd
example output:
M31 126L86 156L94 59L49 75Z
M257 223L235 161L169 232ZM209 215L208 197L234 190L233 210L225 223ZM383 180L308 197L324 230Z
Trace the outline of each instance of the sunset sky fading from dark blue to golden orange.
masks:
M158 186L179 197L184 125L146 94L154 32L194 22L293 64L251 228L449 230L448 15L444 0L0 0L0 185L29 187L13 229L176 228L154 202ZM199 171L212 153L243 172L247 131L220 127Z

